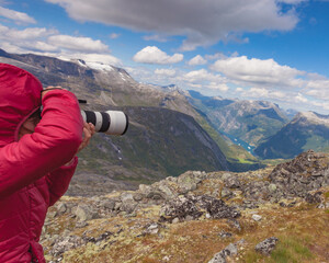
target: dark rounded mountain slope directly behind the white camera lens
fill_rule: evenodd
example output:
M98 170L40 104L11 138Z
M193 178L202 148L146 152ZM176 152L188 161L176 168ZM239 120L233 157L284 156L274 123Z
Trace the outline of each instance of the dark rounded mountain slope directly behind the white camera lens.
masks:
M95 135L79 155L68 195L136 188L190 169L228 170L218 146L191 116L158 107L123 110L129 116L129 129L122 137Z

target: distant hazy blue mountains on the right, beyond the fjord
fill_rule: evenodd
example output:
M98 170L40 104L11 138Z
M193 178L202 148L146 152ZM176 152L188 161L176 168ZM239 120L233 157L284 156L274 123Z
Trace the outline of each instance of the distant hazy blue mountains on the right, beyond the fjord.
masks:
M328 115L283 110L268 101L204 96L189 91L216 130L245 140L261 159L291 159L303 151L329 151Z

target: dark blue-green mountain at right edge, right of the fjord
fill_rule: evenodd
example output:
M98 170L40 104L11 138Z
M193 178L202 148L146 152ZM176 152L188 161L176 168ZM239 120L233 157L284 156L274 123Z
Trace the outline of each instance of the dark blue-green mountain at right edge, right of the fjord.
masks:
M308 149L329 151L329 116L314 112L298 113L254 152L264 159L287 159Z

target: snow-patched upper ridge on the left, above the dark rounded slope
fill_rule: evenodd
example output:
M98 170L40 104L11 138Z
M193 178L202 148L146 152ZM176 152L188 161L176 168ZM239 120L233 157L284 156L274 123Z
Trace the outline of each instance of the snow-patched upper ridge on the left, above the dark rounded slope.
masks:
M246 171L260 167L259 161L245 149L223 139L209 121L190 104L185 92L174 85L158 87L138 83L124 69L83 60L64 61L33 54L14 55L0 50L0 61L29 70L45 87L61 85L71 90L79 99L88 99L89 107L86 110L99 111L99 106L93 105L106 106L104 110L113 106L152 106L188 114L218 145L228 159L230 170Z

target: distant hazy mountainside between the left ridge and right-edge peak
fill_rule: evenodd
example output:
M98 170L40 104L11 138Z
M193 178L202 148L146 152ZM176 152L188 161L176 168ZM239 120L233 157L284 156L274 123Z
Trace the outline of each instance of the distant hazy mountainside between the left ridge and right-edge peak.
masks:
M190 91L190 95L191 103L206 114L217 130L252 146L274 135L288 122L285 113L271 102L209 98L195 91Z

